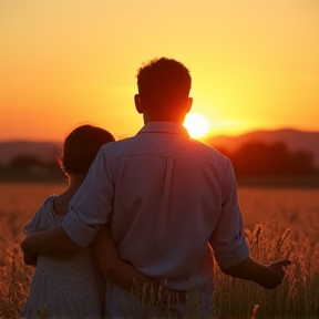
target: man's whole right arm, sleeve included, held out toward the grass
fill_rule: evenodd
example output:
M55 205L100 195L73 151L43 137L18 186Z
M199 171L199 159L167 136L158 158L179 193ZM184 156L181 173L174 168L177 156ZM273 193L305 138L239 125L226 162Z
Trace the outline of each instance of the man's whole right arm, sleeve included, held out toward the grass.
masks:
M249 256L249 247L243 231L237 185L230 162L225 172L222 214L209 243L224 274L253 280L264 288L277 287L285 277L282 268L290 265L289 260L263 265Z

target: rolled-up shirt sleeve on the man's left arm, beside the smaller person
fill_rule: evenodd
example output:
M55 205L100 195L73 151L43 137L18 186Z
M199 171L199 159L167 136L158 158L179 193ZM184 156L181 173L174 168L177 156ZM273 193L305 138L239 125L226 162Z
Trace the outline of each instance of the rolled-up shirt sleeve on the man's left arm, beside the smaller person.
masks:
M107 145L99 151L62 222L66 235L82 248L93 241L100 226L109 223L113 210L114 181L110 165L111 155L105 151L105 146Z

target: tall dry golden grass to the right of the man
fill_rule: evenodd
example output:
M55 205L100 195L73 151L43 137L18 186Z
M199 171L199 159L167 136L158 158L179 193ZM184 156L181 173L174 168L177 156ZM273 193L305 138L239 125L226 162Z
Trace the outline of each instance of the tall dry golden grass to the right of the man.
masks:
M251 256L269 264L289 258L284 282L266 290L216 267L218 318L319 318L318 189L239 188Z

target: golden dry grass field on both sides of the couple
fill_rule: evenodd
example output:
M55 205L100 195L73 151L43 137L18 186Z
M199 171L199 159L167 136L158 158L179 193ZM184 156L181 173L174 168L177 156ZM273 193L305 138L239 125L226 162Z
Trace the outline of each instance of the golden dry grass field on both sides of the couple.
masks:
M23 225L62 184L0 184L0 318L18 318L32 269L22 263ZM319 318L319 189L240 188L251 255L289 258L281 286L266 290L216 267L214 318Z

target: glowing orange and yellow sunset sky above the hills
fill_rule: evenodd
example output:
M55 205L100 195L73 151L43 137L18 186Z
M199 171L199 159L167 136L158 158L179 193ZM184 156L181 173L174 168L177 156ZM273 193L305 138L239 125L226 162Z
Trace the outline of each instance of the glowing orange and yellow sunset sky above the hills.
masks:
M143 125L136 70L183 62L210 135L319 130L318 0L1 0L0 141Z

